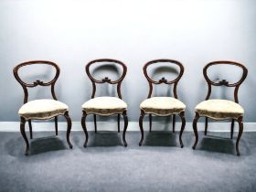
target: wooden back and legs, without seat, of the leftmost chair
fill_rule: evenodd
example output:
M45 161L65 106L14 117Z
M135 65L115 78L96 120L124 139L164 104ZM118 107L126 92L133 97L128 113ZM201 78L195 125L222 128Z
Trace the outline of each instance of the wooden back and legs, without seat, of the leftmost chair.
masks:
M19 77L18 75L18 70L23 68L23 67L26 67L28 65L35 65L35 64L41 64L41 65L49 65L49 66L52 66L53 68L56 69L56 74L55 74L55 77L53 80L50 80L48 82L43 82L42 80L36 80L34 81L33 83L27 83L23 80L21 80L21 78ZM50 86L51 87L51 95L52 95L52 98L56 101L58 101L57 97L56 97L56 94L55 94L55 83L56 81L58 80L59 78L59 72L60 72L60 69L59 69L59 66L54 63L54 62L51 62L51 61L47 61L47 60L32 60L32 61L27 61L27 62L23 62L23 63L20 63L19 65L17 65L14 69L13 69L13 72L14 72L14 76L16 78L16 80L20 83L20 85L22 86L23 88L23 91L24 91L24 104L27 103L27 99L28 99L28 91L27 91L27 88L34 88L34 87L37 87L37 86L42 86L42 87L47 87L47 86ZM59 116L59 115L58 115ZM55 116L54 119L55 119L55 132L56 132L56 135L58 135L58 116ZM69 117L69 112L65 112L64 115L63 115L66 120L67 120L67 123L68 123L68 128L67 128L67 142L69 144L69 147L72 148L72 144L70 143L69 141L69 133L71 131L71 126L72 126L72 123L71 123L71 119ZM51 119L51 118L49 118ZM28 155L28 152L29 152L29 144L28 144L28 140L27 140L27 135L26 135L26 132L25 132L25 124L26 122L28 121L28 125L29 125L29 133L30 133L30 139L33 139L33 133L32 133L32 123L31 123L31 120L37 120L37 119L29 119L29 120L26 120L24 117L20 117L20 132L27 144L27 148L26 148L26 153L25 155Z

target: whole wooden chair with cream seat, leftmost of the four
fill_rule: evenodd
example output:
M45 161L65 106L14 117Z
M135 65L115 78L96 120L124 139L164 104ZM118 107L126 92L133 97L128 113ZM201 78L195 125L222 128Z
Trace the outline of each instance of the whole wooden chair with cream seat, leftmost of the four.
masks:
M41 80L36 80L33 83L27 83L19 77L18 71L19 69L26 67L28 65L48 65L56 69L56 74L53 80L50 80L48 82L43 82ZM29 144L27 140L27 135L25 132L25 124L28 122L29 125L29 133L30 133L30 139L33 138L32 134L32 120L48 120L51 118L55 119L55 132L56 135L58 135L58 116L63 115L68 123L68 130L67 130L67 142L69 144L69 147L72 148L72 144L69 141L69 133L71 130L71 120L69 117L69 107L58 101L54 87L55 83L59 78L59 66L51 61L46 60L33 60L33 61L27 61L23 62L19 65L17 65L14 69L14 76L16 80L20 83L20 85L23 88L25 97L24 97L24 105L19 109L18 114L20 116L20 132L27 144L26 153L25 155L28 155L29 152ZM50 86L51 87L51 94L53 97L52 99L43 99L43 100L34 100L34 101L27 101L28 98L28 91L27 88L34 88L37 86Z

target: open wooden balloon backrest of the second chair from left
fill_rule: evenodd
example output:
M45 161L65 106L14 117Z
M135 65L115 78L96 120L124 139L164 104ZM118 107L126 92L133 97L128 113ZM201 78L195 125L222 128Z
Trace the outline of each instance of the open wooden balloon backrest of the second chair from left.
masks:
M99 65L101 63L104 63L104 62L107 62L108 65L115 65L115 64L118 64L120 66L122 66L122 69L123 69L123 72L122 72L122 75L121 77L118 79L118 80L111 80L109 79L108 77L105 77L103 78L102 80L96 80L92 77L91 75L91 71L90 71L90 68L92 65ZM90 78L91 80L91 83L92 83L92 94L91 94L91 99L95 97L95 92L96 92L96 83L110 83L110 84L117 84L117 94L118 94L118 97L120 99L122 99L122 94L121 94L121 84L122 84L122 81L126 75L126 71L127 71L127 67L126 65L121 62L120 60L116 60L116 59L95 59L95 60L91 60L85 67L85 70L86 70L86 73L88 75L88 77Z

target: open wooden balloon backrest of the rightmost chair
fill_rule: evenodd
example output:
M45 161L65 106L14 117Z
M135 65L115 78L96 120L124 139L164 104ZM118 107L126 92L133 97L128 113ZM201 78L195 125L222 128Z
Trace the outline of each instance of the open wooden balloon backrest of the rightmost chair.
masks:
M242 69L242 76L241 76L239 81L234 82L234 83L229 83L229 81L227 81L227 80L219 80L218 82L214 82L214 81L212 81L208 78L208 69L209 69L209 67L214 66L214 65L233 65L233 66L237 66L240 69ZM239 102L238 91L239 91L239 88L240 88L240 84L243 82L243 80L246 79L247 74L248 74L248 69L246 69L245 66L243 66L242 64L240 64L238 62L234 62L234 61L219 60L219 61L213 61L213 62L208 63L204 67L203 72L204 72L204 77L208 82L208 95L206 97L206 100L208 100L209 97L210 97L211 86L222 86L223 85L223 86L226 86L226 87L235 87L234 99L235 99L235 102L237 102L237 103Z

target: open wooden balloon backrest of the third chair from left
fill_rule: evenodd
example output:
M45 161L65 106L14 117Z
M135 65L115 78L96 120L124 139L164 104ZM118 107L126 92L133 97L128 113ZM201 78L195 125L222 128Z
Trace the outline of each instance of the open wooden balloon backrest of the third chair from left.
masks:
M150 65L159 64L159 63L167 63L169 65L177 65L179 67L179 73L178 73L178 76L176 77L176 79L175 80L166 80L165 77L163 77L162 79L160 79L158 81L155 81L155 80L151 79L148 75L147 68ZM155 60L151 60L151 61L147 62L144 65L144 76L145 76L145 78L146 78L146 80L148 81L148 84L149 84L149 93L148 93L147 98L150 98L152 96L153 84L157 85L157 84L165 83L165 84L168 84L168 85L174 84L173 92L174 92L174 97L177 99L176 86L177 86L178 81L181 79L183 73L184 73L184 67L177 60L173 60L173 59L155 59Z

